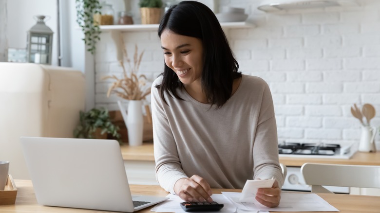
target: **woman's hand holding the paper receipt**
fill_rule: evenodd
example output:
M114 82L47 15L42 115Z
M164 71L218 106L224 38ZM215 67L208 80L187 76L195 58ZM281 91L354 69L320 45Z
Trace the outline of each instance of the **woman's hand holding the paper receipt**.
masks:
M276 207L280 204L281 189L277 180L274 181L272 188L260 188L256 193L256 200L267 207Z

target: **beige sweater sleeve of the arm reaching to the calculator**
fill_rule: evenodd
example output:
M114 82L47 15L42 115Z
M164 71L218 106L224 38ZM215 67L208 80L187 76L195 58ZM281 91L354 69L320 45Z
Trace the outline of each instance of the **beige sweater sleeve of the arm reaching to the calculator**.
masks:
M160 186L171 194L174 193L174 184L180 178L187 178L182 170L181 162L178 158L177 146L173 138L171 127L165 113L166 103L160 96L159 89L155 85L160 84L161 79L157 78L152 85L152 122L154 138L154 158L155 174ZM171 97L166 97L171 98Z

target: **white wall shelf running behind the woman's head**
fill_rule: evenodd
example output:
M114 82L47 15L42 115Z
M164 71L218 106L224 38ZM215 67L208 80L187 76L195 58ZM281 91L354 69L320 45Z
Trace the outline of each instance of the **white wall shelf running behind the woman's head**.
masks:
M222 28L251 28L255 25L250 22L222 22L220 24ZM158 29L158 24L129 24L129 25L102 25L100 30L102 31L154 31Z

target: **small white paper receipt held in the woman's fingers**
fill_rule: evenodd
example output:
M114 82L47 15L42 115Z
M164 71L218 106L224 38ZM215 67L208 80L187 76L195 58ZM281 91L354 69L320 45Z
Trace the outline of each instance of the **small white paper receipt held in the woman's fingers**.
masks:
M255 202L255 197L257 189L259 188L272 188L274 183L274 178L265 180L247 180L244 185L242 195L239 199L240 202L253 203Z

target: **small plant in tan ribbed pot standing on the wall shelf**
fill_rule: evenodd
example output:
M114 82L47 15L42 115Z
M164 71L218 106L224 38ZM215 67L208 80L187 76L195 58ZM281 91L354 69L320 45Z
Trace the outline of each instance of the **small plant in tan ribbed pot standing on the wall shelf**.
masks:
M158 24L161 18L162 0L140 0L141 24Z

